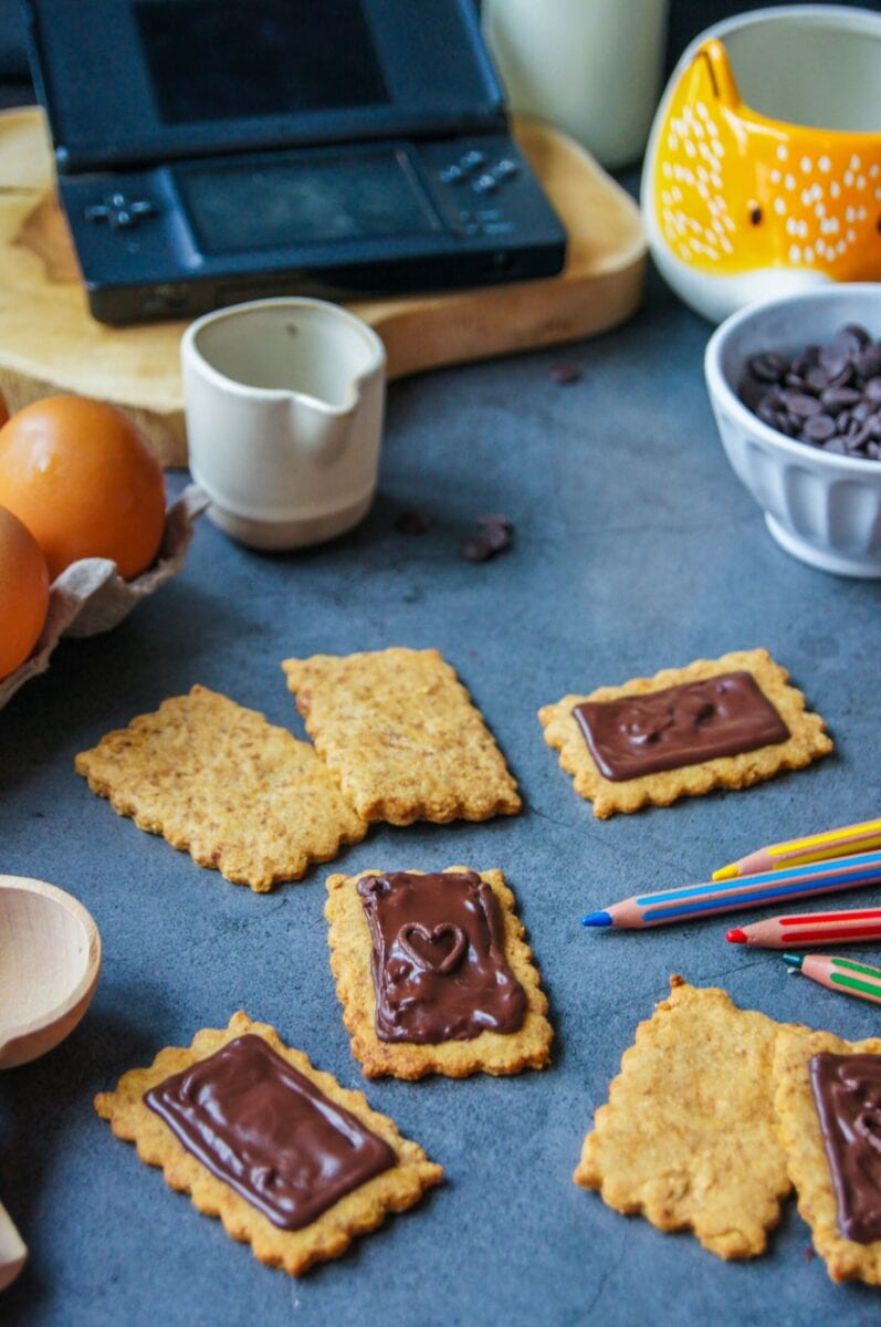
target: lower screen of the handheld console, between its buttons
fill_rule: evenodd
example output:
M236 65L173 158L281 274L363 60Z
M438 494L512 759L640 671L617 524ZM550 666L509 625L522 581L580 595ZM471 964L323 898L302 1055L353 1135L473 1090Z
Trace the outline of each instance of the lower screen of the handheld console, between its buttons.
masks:
M443 227L402 151L176 167L203 253L430 235Z

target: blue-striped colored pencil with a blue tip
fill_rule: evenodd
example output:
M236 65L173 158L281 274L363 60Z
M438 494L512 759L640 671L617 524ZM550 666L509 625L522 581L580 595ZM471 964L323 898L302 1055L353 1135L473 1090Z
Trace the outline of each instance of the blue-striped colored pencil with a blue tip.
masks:
M881 852L864 852L836 861L815 861L809 867L766 871L743 880L723 880L663 893L640 894L581 918L582 926L662 926L671 921L699 921L714 913L760 904L780 904L808 894L881 884Z

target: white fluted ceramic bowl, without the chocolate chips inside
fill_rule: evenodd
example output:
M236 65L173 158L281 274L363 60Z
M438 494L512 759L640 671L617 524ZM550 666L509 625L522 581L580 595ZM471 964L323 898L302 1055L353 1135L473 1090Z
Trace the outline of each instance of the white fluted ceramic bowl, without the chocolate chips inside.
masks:
M705 373L728 460L776 541L823 571L881 577L881 460L795 442L738 397L752 354L828 345L848 322L881 337L881 284L828 285L732 313L710 337Z

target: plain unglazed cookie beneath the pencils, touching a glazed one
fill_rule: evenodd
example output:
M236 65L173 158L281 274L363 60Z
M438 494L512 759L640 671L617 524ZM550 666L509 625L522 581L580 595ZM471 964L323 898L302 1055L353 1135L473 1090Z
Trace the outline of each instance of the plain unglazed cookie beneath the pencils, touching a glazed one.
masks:
M789 1193L771 1078L779 1024L723 990L670 986L624 1054L575 1182L658 1230L691 1229L719 1258L752 1258Z

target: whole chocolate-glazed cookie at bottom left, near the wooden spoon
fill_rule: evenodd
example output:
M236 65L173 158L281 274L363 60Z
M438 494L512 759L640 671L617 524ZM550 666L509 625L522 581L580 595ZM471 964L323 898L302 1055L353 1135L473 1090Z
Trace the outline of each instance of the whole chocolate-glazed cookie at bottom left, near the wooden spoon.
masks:
M170 1188L295 1277L443 1177L361 1092L243 1013L123 1074L94 1104Z

